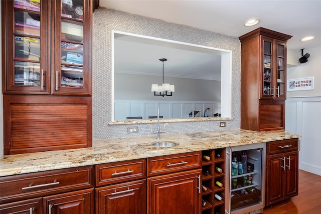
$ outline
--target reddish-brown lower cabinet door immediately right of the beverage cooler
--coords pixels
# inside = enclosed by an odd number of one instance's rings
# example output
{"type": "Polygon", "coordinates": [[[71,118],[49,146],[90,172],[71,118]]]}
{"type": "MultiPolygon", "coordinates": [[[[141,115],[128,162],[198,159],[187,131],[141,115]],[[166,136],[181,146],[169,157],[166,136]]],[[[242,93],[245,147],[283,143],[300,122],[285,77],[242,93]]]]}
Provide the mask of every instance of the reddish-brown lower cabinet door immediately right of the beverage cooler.
{"type": "Polygon", "coordinates": [[[268,155],[266,158],[266,205],[283,200],[283,154],[268,155]]]}

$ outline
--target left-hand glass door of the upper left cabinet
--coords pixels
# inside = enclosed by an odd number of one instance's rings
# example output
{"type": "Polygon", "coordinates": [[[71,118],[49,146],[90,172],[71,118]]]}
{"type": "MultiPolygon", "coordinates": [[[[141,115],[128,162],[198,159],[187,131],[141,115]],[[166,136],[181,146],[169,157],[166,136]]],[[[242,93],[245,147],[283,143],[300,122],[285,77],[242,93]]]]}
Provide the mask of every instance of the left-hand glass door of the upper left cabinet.
{"type": "Polygon", "coordinates": [[[3,28],[4,93],[50,93],[48,8],[48,2],[40,0],[2,2],[7,24],[3,28]]]}

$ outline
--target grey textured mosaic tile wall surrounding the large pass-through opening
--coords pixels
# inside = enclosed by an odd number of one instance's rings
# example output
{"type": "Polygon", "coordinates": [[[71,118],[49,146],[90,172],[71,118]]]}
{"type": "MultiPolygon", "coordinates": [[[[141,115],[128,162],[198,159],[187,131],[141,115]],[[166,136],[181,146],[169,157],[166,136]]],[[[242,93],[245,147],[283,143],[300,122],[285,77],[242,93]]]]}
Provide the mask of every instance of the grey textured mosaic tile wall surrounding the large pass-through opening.
{"type": "MultiPolygon", "coordinates": [[[[215,20],[213,20],[215,22],[215,20]]],[[[152,135],[148,124],[108,125],[111,121],[111,31],[156,37],[232,51],[232,117],[224,129],[240,128],[241,44],[237,37],[99,8],[93,14],[93,140],[152,135]],[[127,134],[127,127],[139,132],[127,134]]],[[[151,124],[155,129],[156,124],[151,124]]],[[[223,129],[219,121],[173,122],[167,133],[223,129]]]]}

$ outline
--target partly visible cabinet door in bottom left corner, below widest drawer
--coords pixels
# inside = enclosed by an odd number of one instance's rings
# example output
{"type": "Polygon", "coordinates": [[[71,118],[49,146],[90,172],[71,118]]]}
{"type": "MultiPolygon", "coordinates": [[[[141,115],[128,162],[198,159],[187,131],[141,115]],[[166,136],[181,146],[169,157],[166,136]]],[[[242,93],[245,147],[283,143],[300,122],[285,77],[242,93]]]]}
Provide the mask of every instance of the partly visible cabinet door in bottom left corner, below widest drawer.
{"type": "Polygon", "coordinates": [[[42,197],[0,204],[0,214],[41,214],[42,197]]]}

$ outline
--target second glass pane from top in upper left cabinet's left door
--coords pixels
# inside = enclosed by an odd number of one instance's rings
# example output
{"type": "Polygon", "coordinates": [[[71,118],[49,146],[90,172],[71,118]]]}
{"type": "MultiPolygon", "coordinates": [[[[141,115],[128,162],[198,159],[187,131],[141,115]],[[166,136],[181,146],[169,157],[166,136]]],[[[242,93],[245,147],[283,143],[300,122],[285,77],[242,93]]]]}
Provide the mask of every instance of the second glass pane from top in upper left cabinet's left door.
{"type": "Polygon", "coordinates": [[[40,36],[40,14],[15,10],[15,33],[40,36]]]}

